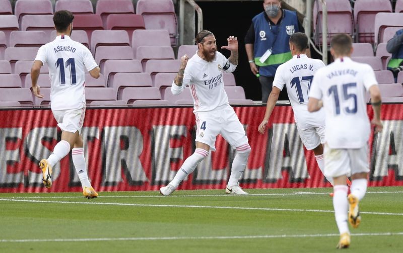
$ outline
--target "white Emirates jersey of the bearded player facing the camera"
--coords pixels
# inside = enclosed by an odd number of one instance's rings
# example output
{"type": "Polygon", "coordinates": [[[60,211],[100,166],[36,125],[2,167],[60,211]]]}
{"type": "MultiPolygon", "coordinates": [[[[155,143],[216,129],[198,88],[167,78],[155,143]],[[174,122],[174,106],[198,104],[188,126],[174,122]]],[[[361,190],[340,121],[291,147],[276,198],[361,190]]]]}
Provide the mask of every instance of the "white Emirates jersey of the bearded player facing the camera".
{"type": "Polygon", "coordinates": [[[201,59],[197,53],[188,60],[182,86],[190,88],[193,112],[206,112],[229,105],[224,90],[223,71],[232,72],[235,67],[220,52],[216,52],[211,62],[201,59]]]}

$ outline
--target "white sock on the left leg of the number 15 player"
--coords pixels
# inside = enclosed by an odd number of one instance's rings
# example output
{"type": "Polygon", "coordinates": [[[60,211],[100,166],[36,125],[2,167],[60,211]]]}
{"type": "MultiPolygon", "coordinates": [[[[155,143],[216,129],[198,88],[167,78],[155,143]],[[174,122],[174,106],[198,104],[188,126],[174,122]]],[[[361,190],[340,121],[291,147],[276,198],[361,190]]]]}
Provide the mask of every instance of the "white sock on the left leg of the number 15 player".
{"type": "Polygon", "coordinates": [[[349,202],[347,200],[347,192],[349,191],[348,186],[345,185],[335,185],[333,187],[333,208],[334,217],[336,219],[337,226],[339,228],[340,234],[345,232],[350,233],[349,225],[347,222],[347,216],[349,211],[349,202]]]}

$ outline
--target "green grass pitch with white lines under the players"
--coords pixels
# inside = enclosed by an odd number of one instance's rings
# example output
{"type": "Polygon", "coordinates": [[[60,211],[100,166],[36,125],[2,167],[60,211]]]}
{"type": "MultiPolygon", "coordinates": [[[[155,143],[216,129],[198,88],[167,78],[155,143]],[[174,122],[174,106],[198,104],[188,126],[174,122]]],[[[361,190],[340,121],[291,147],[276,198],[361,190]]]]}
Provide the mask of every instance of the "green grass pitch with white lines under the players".
{"type": "MultiPolygon", "coordinates": [[[[330,188],[0,194],[0,252],[335,252],[330,188]]],[[[371,187],[348,252],[402,252],[402,187],[371,187]]]]}

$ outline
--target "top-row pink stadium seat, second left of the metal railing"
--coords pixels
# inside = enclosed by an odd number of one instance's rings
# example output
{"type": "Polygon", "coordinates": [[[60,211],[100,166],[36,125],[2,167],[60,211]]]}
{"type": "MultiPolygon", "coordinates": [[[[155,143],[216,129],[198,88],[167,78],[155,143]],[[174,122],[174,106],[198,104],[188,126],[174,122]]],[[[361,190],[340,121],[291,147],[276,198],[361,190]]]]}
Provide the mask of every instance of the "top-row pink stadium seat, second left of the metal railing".
{"type": "Polygon", "coordinates": [[[110,14],[135,14],[135,8],[131,0],[98,0],[96,14],[100,15],[104,27],[110,14]]]}

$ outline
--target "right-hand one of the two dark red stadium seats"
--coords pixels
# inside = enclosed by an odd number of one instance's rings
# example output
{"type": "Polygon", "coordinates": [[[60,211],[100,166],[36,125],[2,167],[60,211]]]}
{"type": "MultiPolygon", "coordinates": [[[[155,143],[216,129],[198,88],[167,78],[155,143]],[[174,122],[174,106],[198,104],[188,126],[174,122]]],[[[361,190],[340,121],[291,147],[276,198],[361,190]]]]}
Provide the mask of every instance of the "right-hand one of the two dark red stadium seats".
{"type": "Polygon", "coordinates": [[[129,36],[130,45],[133,31],[137,29],[146,29],[141,15],[110,14],[106,18],[106,30],[125,30],[129,36]]]}

